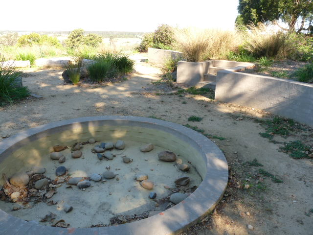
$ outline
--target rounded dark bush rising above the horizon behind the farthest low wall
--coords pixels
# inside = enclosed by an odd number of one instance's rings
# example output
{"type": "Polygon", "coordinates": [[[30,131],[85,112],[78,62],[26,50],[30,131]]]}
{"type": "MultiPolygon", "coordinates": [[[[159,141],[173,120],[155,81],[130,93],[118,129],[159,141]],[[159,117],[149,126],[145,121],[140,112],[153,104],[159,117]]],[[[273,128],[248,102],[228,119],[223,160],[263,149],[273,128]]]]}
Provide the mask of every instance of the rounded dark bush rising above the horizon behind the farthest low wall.
{"type": "Polygon", "coordinates": [[[174,41],[174,33],[171,26],[168,24],[161,24],[157,27],[153,35],[153,44],[156,48],[170,47],[174,41]]]}

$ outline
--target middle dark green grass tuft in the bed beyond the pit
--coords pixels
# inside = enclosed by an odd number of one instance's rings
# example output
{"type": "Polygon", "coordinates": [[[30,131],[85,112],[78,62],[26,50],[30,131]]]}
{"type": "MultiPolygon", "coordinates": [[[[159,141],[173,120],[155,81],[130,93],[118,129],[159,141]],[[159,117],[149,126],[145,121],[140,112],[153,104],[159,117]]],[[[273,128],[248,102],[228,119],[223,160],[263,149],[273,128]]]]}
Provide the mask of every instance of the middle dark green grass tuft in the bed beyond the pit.
{"type": "Polygon", "coordinates": [[[89,78],[94,82],[104,81],[111,67],[112,65],[110,62],[98,60],[96,63],[89,65],[87,68],[89,71],[89,78]]]}

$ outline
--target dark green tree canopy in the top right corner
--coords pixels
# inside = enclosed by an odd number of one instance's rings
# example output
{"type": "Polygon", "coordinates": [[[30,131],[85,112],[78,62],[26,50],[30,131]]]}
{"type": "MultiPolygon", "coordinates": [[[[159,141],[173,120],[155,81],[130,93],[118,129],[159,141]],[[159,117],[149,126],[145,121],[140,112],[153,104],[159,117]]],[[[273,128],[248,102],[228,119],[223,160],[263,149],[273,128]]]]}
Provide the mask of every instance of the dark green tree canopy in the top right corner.
{"type": "Polygon", "coordinates": [[[275,22],[278,20],[288,24],[284,30],[295,30],[296,23],[301,22],[297,29],[301,31],[305,22],[310,21],[313,15],[312,0],[239,0],[239,15],[236,24],[258,22],[275,22]]]}

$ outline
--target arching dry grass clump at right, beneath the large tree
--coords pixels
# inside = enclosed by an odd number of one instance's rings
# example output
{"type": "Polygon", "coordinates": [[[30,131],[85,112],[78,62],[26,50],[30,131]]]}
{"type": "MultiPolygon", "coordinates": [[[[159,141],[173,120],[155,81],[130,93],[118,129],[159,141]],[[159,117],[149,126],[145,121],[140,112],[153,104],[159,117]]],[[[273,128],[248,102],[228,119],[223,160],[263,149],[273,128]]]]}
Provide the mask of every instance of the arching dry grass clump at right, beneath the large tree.
{"type": "Polygon", "coordinates": [[[249,24],[250,32],[246,33],[245,48],[254,57],[272,57],[285,59],[295,51],[292,34],[274,31],[266,24],[249,24]]]}

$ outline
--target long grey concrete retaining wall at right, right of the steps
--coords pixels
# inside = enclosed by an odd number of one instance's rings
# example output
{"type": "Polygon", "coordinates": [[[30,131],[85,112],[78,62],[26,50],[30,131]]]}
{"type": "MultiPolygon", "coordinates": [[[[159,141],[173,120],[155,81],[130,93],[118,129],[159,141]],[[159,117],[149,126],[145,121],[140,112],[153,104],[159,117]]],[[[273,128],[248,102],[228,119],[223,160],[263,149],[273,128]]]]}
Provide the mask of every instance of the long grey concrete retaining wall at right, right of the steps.
{"type": "Polygon", "coordinates": [[[313,126],[313,85],[256,74],[218,71],[215,100],[248,106],[313,126]]]}

